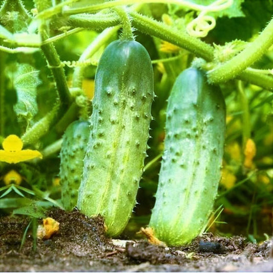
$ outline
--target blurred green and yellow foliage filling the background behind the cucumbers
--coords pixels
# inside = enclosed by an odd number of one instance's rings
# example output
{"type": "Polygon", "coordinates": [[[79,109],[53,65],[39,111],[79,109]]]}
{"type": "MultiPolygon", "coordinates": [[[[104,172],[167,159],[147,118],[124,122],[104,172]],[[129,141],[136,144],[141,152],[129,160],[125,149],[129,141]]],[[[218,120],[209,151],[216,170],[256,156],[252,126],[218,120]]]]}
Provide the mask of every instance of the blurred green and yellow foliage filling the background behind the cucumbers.
{"type": "MultiPolygon", "coordinates": [[[[120,35],[120,27],[116,27],[104,40],[99,36],[108,25],[120,24],[111,9],[93,11],[89,16],[91,23],[88,23],[85,14],[58,12],[38,17],[37,7],[43,9],[45,5],[50,9],[63,2],[5,0],[0,4],[1,142],[6,136],[15,134],[22,138],[27,148],[39,150],[44,155],[40,161],[0,162],[0,207],[3,215],[15,209],[15,213],[41,217],[45,208],[52,204],[60,205],[58,174],[62,134],[73,120],[91,114],[97,62],[103,49],[120,35]],[[96,43],[97,46],[94,46],[96,43]],[[78,61],[90,45],[94,46],[93,54],[78,61]],[[64,71],[65,81],[59,70],[64,71]],[[77,70],[81,73],[78,75],[82,75],[82,82],[80,78],[75,78],[77,70]],[[39,126],[39,131],[34,129],[39,126]],[[15,170],[20,178],[9,178],[11,170],[15,170]],[[5,183],[5,179],[9,182],[5,183]],[[22,181],[11,191],[10,185],[18,179],[22,181]]],[[[214,1],[187,2],[207,6],[214,1]]],[[[101,3],[104,1],[78,1],[72,6],[101,3]]],[[[166,4],[166,1],[143,4],[136,9],[163,22],[177,35],[184,32],[187,24],[198,16],[198,11],[183,5],[166,4]]],[[[216,26],[205,37],[198,39],[214,47],[216,63],[225,61],[253,41],[272,14],[273,3],[270,0],[234,0],[232,7],[207,14],[215,18],[216,26]]],[[[200,56],[195,50],[174,45],[172,40],[163,40],[157,35],[149,35],[149,31],[139,29],[138,24],[133,17],[136,40],[148,50],[153,60],[157,97],[152,109],[151,149],[137,197],[139,204],[127,228],[127,232],[133,233],[148,224],[154,204],[163,150],[166,99],[178,74],[192,61],[200,61],[196,59],[200,56]]],[[[272,78],[272,64],[273,46],[251,67],[259,69],[260,73],[261,70],[263,73],[267,71],[268,77],[272,78]]],[[[273,86],[270,92],[239,79],[222,82],[220,86],[227,106],[227,130],[222,180],[210,229],[222,234],[243,234],[250,240],[262,240],[271,235],[273,226],[273,86]],[[245,164],[246,141],[249,138],[253,140],[257,152],[250,163],[245,164]]]]}

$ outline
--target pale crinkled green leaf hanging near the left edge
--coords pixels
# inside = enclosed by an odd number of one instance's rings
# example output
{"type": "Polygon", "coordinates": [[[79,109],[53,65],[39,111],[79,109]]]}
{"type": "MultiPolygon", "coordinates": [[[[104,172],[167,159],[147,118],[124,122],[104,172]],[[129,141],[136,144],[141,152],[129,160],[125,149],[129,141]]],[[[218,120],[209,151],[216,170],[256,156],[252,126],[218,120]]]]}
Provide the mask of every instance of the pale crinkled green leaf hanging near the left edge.
{"type": "Polygon", "coordinates": [[[20,65],[14,75],[14,87],[17,92],[17,103],[14,105],[14,111],[19,123],[23,127],[31,125],[34,115],[36,115],[36,88],[40,84],[38,78],[39,71],[34,70],[30,65],[20,65]]]}

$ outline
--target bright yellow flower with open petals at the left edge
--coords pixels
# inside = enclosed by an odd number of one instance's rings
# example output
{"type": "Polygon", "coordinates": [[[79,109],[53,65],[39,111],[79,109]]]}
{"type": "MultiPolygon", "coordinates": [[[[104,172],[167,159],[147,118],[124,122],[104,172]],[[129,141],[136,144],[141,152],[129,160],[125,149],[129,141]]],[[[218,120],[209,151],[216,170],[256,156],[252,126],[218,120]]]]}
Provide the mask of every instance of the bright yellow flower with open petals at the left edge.
{"type": "Polygon", "coordinates": [[[15,135],[6,137],[2,146],[4,150],[0,150],[0,161],[18,163],[33,158],[43,158],[41,153],[36,150],[22,150],[23,141],[15,135]]]}

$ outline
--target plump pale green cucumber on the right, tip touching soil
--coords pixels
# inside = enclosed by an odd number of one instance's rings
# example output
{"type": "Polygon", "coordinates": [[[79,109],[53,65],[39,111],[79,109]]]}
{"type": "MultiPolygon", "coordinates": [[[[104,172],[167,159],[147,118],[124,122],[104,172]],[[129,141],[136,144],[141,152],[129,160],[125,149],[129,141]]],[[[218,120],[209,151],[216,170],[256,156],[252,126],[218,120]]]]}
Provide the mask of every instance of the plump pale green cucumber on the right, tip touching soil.
{"type": "Polygon", "coordinates": [[[225,102],[203,73],[184,70],[166,110],[164,153],[149,226],[167,245],[190,242],[205,228],[221,177],[225,102]]]}

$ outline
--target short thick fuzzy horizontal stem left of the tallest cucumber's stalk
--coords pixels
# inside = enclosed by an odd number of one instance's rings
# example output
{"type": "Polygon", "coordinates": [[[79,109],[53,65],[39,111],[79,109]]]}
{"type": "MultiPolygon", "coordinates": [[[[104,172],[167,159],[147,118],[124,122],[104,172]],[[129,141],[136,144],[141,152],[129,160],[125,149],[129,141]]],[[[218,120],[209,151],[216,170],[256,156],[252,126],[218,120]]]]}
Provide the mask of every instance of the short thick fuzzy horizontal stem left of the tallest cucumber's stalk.
{"type": "Polygon", "coordinates": [[[74,27],[104,30],[120,24],[120,18],[114,12],[96,14],[76,14],[69,16],[69,24],[74,27]]]}

